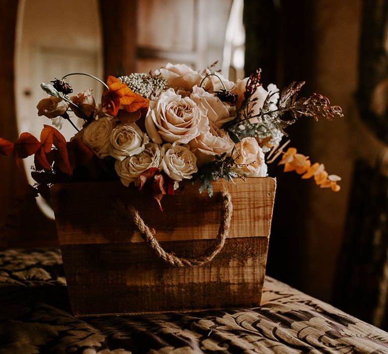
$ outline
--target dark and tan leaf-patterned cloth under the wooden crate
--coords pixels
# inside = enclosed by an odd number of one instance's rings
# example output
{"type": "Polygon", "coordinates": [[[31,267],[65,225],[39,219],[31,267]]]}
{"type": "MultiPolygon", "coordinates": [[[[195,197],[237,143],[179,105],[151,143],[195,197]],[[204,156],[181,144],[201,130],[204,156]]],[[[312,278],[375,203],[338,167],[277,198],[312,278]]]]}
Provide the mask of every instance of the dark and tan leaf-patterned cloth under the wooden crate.
{"type": "Polygon", "coordinates": [[[266,277],[263,305],[72,316],[58,249],[0,252],[0,353],[388,353],[388,333],[266,277]]]}

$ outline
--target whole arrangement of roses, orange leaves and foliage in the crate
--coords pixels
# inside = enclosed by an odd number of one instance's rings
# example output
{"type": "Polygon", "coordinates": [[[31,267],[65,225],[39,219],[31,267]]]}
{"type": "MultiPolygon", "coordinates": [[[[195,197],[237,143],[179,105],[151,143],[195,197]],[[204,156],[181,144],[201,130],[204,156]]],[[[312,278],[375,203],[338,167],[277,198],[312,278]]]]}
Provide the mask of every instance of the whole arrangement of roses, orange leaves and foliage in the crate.
{"type": "MultiPolygon", "coordinates": [[[[120,179],[124,186],[147,186],[161,207],[183,180],[199,181],[200,192],[212,196],[212,182],[267,175],[276,159],[284,171],[314,178],[321,188],[340,190],[341,179],[323,164],[312,164],[295,148],[284,150],[286,128],[302,116],[331,120],[342,110],[313,94],[300,98],[304,82],[293,82],[281,93],[260,83],[260,70],[229,81],[212,67],[203,72],[167,64],[150,73],[109,76],[101,104],[88,89],[71,95],[65,79],[42,83],[49,97],[38,105],[58,129],[64,121],[77,130],[67,142],[52,125],[40,140],[24,132],[15,142],[0,138],[0,153],[18,159],[34,155],[32,176],[37,193],[49,198],[60,182],[120,179]],[[84,120],[78,129],[71,116],[84,120]],[[284,140],[284,142],[283,142],[284,140]]],[[[77,73],[79,74],[79,73],[77,73]]]]}

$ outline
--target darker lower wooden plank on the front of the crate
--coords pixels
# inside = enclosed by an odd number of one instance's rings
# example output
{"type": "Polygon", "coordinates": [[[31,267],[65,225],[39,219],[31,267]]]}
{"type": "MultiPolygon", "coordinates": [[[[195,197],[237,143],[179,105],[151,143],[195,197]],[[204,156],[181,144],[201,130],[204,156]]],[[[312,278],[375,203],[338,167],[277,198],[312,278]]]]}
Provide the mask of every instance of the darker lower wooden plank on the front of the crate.
{"type": "MultiPolygon", "coordinates": [[[[211,240],[163,242],[179,256],[196,257],[211,240]]],[[[202,267],[176,268],[146,243],[61,247],[76,316],[155,313],[260,305],[267,237],[226,240],[202,267]]]]}

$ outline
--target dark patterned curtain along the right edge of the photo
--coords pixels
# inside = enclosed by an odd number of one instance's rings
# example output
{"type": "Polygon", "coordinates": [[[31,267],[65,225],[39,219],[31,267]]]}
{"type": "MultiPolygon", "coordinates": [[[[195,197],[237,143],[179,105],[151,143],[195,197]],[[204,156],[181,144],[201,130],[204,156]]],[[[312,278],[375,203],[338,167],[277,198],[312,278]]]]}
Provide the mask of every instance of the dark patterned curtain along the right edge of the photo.
{"type": "Polygon", "coordinates": [[[334,293],[336,306],[384,329],[388,329],[388,169],[383,158],[384,145],[388,146],[387,21],[388,1],[363,0],[356,102],[365,129],[381,146],[354,166],[334,293]]]}

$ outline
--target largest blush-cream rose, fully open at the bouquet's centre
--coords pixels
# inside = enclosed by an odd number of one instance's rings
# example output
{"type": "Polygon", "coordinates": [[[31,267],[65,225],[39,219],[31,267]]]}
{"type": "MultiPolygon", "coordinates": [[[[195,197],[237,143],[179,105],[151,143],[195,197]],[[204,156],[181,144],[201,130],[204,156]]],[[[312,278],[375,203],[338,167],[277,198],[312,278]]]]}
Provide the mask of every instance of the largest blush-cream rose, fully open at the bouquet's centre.
{"type": "Polygon", "coordinates": [[[187,144],[209,127],[206,114],[193,100],[168,89],[156,101],[150,101],[146,129],[154,143],[162,144],[164,140],[176,145],[187,144]]]}

